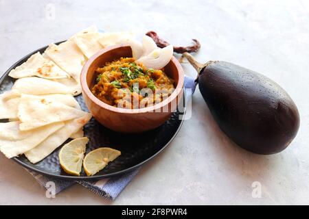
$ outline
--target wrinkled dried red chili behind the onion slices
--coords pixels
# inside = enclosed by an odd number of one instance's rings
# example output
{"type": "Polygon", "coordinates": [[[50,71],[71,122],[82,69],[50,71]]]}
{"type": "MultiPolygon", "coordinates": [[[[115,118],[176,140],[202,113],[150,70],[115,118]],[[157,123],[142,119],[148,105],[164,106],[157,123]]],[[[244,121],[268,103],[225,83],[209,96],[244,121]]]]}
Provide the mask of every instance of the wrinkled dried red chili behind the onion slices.
{"type": "MultiPolygon", "coordinates": [[[[155,31],[148,31],[148,33],[146,35],[150,36],[155,41],[157,46],[160,47],[160,48],[167,47],[169,45],[168,42],[166,42],[162,38],[159,38],[158,34],[155,31]]],[[[198,49],[201,48],[201,43],[198,42],[198,40],[196,40],[196,39],[192,39],[192,40],[194,42],[194,44],[192,46],[174,47],[174,52],[175,53],[185,53],[185,52],[196,53],[198,51],[198,49]]]]}

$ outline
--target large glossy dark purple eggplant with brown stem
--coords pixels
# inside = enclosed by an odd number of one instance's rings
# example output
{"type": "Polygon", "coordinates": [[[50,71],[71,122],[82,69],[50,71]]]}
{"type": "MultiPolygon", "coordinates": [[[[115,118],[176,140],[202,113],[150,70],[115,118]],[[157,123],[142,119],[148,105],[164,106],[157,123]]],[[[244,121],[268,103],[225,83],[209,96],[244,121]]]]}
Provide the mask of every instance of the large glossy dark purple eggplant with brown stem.
{"type": "Polygon", "coordinates": [[[200,64],[198,87],[211,115],[233,142],[253,153],[279,153],[295,138],[299,112],[287,92],[268,77],[229,62],[200,64]]]}

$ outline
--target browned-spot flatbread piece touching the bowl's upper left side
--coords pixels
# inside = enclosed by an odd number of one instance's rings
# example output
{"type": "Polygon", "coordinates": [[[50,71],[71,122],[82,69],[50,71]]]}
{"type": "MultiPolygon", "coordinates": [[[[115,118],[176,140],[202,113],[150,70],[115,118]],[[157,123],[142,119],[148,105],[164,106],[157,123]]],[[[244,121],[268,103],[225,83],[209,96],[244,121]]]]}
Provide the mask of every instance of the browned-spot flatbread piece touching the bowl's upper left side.
{"type": "Polygon", "coordinates": [[[67,40],[58,46],[56,44],[50,44],[45,50],[45,54],[60,66],[60,68],[71,75],[71,77],[76,80],[80,79],[82,66],[86,59],[73,40],[67,40]]]}

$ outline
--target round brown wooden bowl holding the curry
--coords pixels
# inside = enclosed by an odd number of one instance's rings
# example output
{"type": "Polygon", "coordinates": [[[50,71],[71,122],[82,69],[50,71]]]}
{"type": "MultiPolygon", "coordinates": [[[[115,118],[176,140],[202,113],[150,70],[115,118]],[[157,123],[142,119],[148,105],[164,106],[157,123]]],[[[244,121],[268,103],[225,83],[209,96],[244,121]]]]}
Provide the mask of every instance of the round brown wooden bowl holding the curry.
{"type": "Polygon", "coordinates": [[[150,107],[131,110],[108,105],[96,98],[91,92],[91,88],[98,76],[95,70],[104,66],[106,62],[113,62],[120,57],[132,57],[130,46],[119,44],[107,47],[93,55],[84,64],[80,81],[82,84],[82,96],[89,111],[99,123],[114,131],[139,133],[159,127],[170,118],[183,95],[184,73],[181,64],[173,56],[164,68],[165,73],[174,79],[176,88],[168,99],[150,107]]]}

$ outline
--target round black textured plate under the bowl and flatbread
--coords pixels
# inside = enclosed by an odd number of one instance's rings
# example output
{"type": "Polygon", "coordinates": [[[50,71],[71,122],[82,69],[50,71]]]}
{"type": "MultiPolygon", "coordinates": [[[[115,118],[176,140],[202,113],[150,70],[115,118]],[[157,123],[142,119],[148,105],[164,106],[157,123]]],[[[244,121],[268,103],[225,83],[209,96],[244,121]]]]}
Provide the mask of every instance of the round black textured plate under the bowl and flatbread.
{"type": "MultiPolygon", "coordinates": [[[[38,51],[43,53],[46,48],[47,47],[43,47],[30,53],[11,66],[0,78],[0,93],[12,88],[15,80],[8,76],[10,70],[23,64],[23,62],[25,62],[34,53],[38,51]]],[[[78,103],[80,103],[82,110],[88,112],[82,95],[76,96],[76,99],[78,103]]],[[[183,101],[183,103],[183,106],[185,106],[185,101],[183,101]]],[[[29,170],[34,170],[43,175],[57,177],[60,179],[93,180],[113,177],[141,166],[141,164],[148,162],[152,159],[152,157],[155,157],[158,153],[160,153],[176,136],[176,133],[183,124],[183,120],[179,120],[179,116],[185,112],[185,107],[182,107],[181,109],[182,110],[180,111],[182,113],[179,112],[179,109],[177,109],[177,111],[172,114],[170,119],[161,125],[161,127],[141,134],[117,133],[100,125],[100,123],[92,118],[84,127],[84,134],[89,138],[86,153],[89,153],[98,147],[110,146],[121,151],[122,155],[115,159],[115,161],[108,164],[106,168],[91,177],[87,177],[84,170],[82,170],[80,177],[76,177],[67,175],[67,173],[60,168],[58,150],[61,146],[37,164],[30,163],[24,155],[14,157],[12,159],[29,170]]],[[[1,120],[1,122],[5,121],[7,120],[1,120]]],[[[69,140],[67,142],[69,142],[69,140]]]]}

